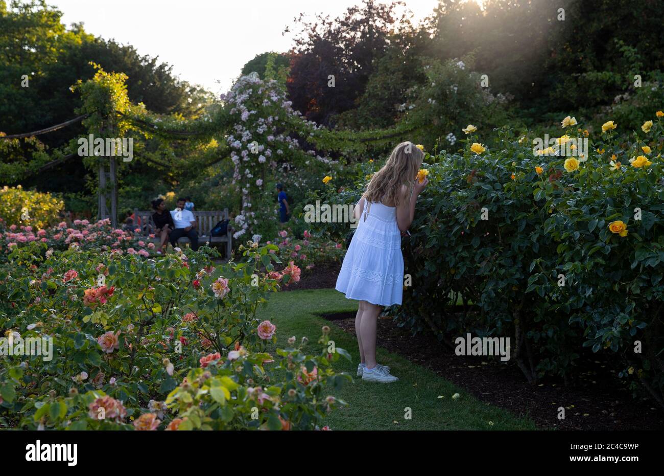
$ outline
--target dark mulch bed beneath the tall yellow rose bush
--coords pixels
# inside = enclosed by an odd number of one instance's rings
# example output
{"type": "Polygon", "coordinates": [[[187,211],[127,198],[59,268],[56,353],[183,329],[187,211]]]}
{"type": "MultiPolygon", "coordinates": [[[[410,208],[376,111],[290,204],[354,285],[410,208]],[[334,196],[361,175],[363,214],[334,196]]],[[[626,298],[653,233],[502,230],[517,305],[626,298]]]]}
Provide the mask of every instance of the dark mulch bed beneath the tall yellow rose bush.
{"type": "MultiPolygon", "coordinates": [[[[323,317],[355,334],[355,312],[323,317]]],[[[633,400],[628,392],[616,386],[616,379],[606,370],[608,364],[599,360],[584,369],[574,386],[565,387],[562,381],[553,379],[531,386],[514,364],[499,364],[479,356],[457,356],[432,334],[412,336],[387,316],[378,319],[377,344],[465,388],[482,402],[530,417],[541,428],[664,428],[661,408],[657,408],[653,400],[633,400]],[[561,406],[566,408],[564,420],[557,418],[557,409],[561,406]]]]}

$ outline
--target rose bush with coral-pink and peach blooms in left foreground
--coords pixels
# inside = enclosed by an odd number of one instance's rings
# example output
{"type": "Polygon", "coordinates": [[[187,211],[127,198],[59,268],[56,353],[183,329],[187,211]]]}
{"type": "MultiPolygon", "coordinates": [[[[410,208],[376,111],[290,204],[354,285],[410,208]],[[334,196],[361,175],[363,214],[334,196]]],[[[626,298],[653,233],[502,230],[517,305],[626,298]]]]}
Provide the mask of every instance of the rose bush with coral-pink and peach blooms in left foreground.
{"type": "Polygon", "coordinates": [[[52,356],[11,356],[5,347],[0,406],[8,413],[0,425],[275,429],[276,418],[313,429],[337,405],[321,392],[328,380],[345,380],[331,370],[345,352],[266,353],[277,329],[256,311],[280,285],[270,273],[293,272],[274,269],[276,249],[240,247],[242,263],[215,266],[207,247],[155,259],[118,250],[47,256],[39,241],[13,247],[0,265],[3,338],[52,338],[52,356]],[[290,364],[325,369],[319,386],[298,386],[290,364]],[[255,410],[259,387],[271,404],[261,397],[255,410]],[[192,388],[209,395],[189,395],[192,388]]]}

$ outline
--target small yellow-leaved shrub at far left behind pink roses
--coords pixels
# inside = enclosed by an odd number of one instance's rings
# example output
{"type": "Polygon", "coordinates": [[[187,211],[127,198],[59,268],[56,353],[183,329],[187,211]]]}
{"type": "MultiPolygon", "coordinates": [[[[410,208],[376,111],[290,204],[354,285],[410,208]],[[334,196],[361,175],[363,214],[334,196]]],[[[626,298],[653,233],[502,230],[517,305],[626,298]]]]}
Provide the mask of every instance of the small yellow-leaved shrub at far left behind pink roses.
{"type": "Polygon", "coordinates": [[[5,226],[27,225],[43,228],[58,219],[64,203],[50,193],[24,190],[21,185],[0,189],[0,219],[5,226]]]}

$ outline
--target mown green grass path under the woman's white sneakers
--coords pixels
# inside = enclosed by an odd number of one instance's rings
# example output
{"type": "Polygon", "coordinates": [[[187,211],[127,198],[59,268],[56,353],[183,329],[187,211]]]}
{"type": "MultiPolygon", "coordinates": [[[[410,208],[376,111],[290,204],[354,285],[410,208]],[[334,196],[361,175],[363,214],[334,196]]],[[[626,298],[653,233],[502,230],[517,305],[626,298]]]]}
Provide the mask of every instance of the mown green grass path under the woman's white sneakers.
{"type": "Polygon", "coordinates": [[[308,346],[318,346],[321,326],[327,324],[336,346],[353,356],[353,362],[342,358],[335,364],[337,372],[351,374],[354,382],[330,392],[349,404],[327,417],[331,429],[537,429],[530,419],[479,402],[430,370],[383,348],[378,348],[378,362],[390,366],[400,380],[394,384],[363,382],[355,376],[360,361],[355,336],[317,315],[353,310],[357,310],[357,302],[333,289],[316,289],[272,295],[259,314],[277,326],[278,347],[285,347],[293,335],[298,340],[307,336],[308,346]],[[452,400],[456,393],[460,398],[452,400]],[[411,419],[405,418],[406,408],[411,409],[411,419]]]}

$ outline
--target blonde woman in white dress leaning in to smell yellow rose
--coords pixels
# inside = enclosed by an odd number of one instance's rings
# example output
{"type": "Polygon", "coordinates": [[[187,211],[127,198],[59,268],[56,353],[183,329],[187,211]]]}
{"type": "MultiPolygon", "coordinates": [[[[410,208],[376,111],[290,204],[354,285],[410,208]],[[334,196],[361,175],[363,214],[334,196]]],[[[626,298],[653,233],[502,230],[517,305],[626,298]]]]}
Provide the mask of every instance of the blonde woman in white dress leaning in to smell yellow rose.
{"type": "Polygon", "coordinates": [[[402,142],[369,181],[355,206],[357,229],[337,278],[337,291],[359,300],[355,332],[361,362],[357,376],[370,382],[396,382],[390,368],[376,362],[376,320],[382,306],[401,304],[404,257],[401,232],[415,216],[415,203],[428,183],[415,180],[424,153],[402,142]]]}

